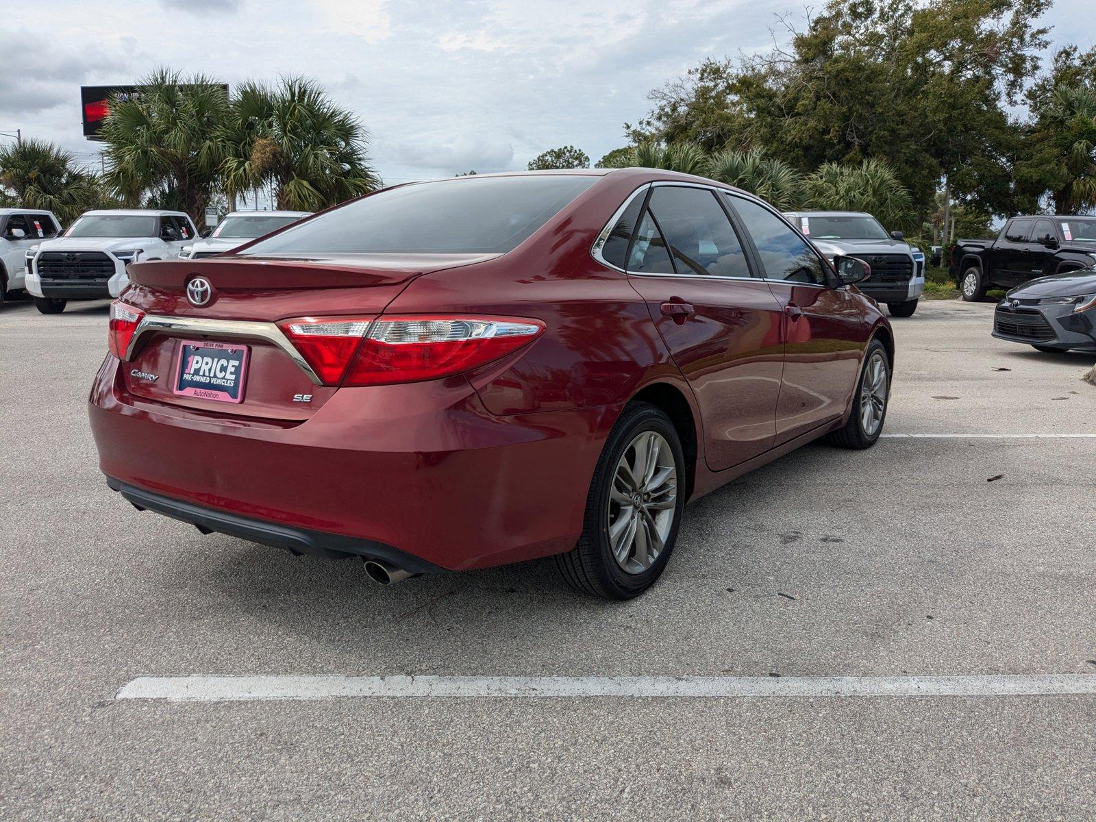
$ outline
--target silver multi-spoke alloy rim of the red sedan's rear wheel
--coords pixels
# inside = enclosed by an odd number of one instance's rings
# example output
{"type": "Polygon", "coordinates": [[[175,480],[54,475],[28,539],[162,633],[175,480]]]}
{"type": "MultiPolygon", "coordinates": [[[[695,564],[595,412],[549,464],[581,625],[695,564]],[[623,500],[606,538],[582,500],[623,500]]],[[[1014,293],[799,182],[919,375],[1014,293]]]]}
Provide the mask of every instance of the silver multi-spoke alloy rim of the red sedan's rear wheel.
{"type": "Polygon", "coordinates": [[[609,488],[609,547],[627,573],[659,558],[677,512],[677,467],[665,437],[643,431],[624,449],[609,488]]]}

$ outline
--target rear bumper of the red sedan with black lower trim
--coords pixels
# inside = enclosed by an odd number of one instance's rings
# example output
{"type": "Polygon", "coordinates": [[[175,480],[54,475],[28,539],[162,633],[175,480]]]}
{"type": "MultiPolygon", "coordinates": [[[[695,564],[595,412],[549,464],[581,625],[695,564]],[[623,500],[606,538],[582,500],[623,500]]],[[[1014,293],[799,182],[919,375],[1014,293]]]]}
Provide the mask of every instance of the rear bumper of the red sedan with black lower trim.
{"type": "Polygon", "coordinates": [[[104,361],[89,413],[100,467],[132,501],[296,550],[388,558],[379,545],[404,568],[570,550],[619,413],[493,416],[458,377],[344,388],[306,422],[275,423],[141,400],[118,365],[104,361]]]}

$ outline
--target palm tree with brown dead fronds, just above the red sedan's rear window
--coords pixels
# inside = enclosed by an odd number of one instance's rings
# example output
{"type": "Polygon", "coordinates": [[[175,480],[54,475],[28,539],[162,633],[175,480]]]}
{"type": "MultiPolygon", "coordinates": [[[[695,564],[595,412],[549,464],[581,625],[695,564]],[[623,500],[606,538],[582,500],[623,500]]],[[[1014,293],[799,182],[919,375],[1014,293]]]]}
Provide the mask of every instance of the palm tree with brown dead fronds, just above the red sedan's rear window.
{"type": "Polygon", "coordinates": [[[278,208],[318,210],[380,186],[362,124],[311,80],[246,83],[218,134],[226,187],[271,185],[278,208]]]}

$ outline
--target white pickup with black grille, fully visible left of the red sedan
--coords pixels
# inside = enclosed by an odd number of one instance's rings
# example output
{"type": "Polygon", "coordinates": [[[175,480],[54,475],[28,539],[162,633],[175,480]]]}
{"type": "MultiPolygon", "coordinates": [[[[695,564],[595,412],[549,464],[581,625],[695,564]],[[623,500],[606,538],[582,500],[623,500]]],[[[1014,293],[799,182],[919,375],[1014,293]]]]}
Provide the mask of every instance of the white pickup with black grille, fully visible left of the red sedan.
{"type": "Polygon", "coordinates": [[[182,212],[85,212],[61,237],[26,252],[26,290],[42,313],[64,311],[70,299],[117,297],[129,285],[128,263],[176,259],[195,237],[182,212]]]}

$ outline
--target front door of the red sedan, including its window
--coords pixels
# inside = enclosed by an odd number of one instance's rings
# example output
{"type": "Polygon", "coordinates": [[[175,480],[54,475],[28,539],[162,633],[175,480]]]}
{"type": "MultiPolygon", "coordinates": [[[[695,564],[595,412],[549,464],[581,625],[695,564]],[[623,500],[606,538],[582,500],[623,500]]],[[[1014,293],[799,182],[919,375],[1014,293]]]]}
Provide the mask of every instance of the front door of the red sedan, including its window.
{"type": "Polygon", "coordinates": [[[776,409],[779,445],[845,412],[859,369],[864,310],[847,288],[830,284],[827,264],[776,212],[754,199],[724,196],[787,317],[776,409]]]}

